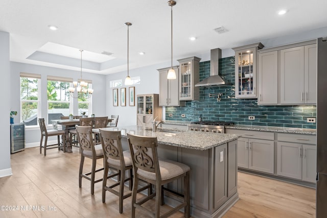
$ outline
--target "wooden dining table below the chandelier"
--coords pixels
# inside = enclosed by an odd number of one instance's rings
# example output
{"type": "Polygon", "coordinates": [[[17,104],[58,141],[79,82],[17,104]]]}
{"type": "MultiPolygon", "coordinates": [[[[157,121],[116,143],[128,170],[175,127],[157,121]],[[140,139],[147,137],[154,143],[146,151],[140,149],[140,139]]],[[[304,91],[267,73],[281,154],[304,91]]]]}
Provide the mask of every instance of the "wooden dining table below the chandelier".
{"type": "MultiPolygon", "coordinates": [[[[108,118],[108,123],[112,121],[111,118],[108,118]]],[[[76,125],[80,124],[80,119],[54,119],[52,120],[53,128],[58,130],[58,125],[62,126],[62,130],[65,131],[65,141],[64,144],[66,146],[66,152],[72,153],[72,145],[69,141],[69,130],[75,128],[76,125]]]]}

